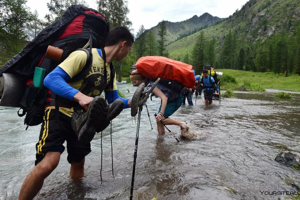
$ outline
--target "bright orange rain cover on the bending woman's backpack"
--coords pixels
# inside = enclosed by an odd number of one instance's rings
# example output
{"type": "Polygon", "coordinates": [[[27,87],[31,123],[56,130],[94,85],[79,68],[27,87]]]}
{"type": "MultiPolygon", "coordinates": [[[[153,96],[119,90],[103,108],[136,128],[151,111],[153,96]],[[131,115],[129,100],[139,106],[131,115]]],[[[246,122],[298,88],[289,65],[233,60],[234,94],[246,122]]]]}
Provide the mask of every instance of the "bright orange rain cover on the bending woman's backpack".
{"type": "Polygon", "coordinates": [[[186,88],[195,86],[193,66],[162,56],[145,56],[135,64],[142,76],[151,79],[170,79],[178,81],[186,88]]]}

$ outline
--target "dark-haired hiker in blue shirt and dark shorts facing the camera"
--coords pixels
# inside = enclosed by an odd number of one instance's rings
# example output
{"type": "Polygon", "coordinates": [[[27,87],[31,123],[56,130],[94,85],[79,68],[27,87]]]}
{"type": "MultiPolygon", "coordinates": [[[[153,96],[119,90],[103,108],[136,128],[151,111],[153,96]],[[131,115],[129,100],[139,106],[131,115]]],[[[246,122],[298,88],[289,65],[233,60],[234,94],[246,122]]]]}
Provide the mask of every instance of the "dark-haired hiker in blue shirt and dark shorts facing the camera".
{"type": "Polygon", "coordinates": [[[214,79],[208,75],[208,70],[203,70],[203,76],[196,83],[203,85],[204,102],[208,106],[212,103],[213,94],[217,94],[217,85],[214,79]]]}

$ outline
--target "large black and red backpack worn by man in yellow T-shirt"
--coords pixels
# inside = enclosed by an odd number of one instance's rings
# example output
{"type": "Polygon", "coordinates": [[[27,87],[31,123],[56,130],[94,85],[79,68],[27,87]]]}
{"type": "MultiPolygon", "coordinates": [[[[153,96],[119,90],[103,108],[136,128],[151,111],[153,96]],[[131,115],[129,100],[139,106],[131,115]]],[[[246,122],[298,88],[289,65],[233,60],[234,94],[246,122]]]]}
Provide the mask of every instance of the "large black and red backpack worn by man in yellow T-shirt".
{"type": "MultiPolygon", "coordinates": [[[[24,87],[24,94],[19,104],[23,109],[23,113],[19,114],[18,112],[19,116],[23,116],[27,112],[25,124],[30,126],[42,122],[40,115],[43,115],[43,113],[37,114],[33,109],[40,109],[41,105],[45,104],[47,94],[49,96],[49,93],[51,93],[51,91],[47,91],[44,88],[34,88],[32,83],[28,81],[32,80],[35,67],[44,68],[46,76],[64,61],[71,52],[83,48],[87,43],[90,44],[90,48],[91,46],[93,48],[103,48],[109,31],[110,25],[99,11],[83,5],[71,5],[61,19],[44,28],[20,53],[0,68],[0,76],[3,73],[16,74],[25,80],[24,85],[27,84],[27,87],[24,87]],[[49,45],[63,49],[60,61],[45,58],[49,45]],[[39,108],[32,108],[35,104],[39,108]],[[31,116],[30,111],[36,116],[31,116]]],[[[73,77],[69,82],[79,80],[88,74],[88,70],[91,67],[91,51],[88,49],[83,50],[90,54],[84,67],[85,70],[82,70],[79,75],[73,77]]]]}

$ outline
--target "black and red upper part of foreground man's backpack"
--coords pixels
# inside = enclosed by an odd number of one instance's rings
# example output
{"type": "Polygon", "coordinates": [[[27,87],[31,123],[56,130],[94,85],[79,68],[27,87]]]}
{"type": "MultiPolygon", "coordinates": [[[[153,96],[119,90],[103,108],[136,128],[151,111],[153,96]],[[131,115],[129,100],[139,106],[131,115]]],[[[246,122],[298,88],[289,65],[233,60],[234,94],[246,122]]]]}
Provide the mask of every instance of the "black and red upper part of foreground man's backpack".
{"type": "Polygon", "coordinates": [[[20,53],[5,63],[0,68],[0,76],[4,72],[32,76],[35,67],[45,68],[48,74],[71,52],[85,46],[90,36],[93,47],[103,48],[109,30],[109,23],[99,11],[71,5],[61,19],[44,28],[20,53]],[[61,61],[44,58],[49,45],[64,50],[61,61]]]}

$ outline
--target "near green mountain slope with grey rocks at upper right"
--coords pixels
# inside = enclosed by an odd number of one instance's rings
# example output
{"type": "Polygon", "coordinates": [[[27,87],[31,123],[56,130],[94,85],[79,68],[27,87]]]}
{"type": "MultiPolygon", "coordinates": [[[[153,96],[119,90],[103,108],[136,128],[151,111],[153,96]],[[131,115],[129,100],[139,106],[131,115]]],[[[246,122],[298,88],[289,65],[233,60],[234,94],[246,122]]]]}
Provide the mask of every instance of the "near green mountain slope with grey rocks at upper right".
{"type": "MultiPolygon", "coordinates": [[[[254,43],[285,29],[290,34],[300,25],[300,0],[250,0],[241,9],[229,16],[224,22],[203,29],[207,39],[216,39],[216,50],[219,53],[224,36],[230,29],[238,32],[239,43],[254,43]]],[[[167,46],[170,58],[191,54],[195,40],[200,31],[182,38],[167,46]]]]}

